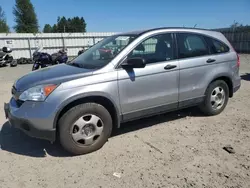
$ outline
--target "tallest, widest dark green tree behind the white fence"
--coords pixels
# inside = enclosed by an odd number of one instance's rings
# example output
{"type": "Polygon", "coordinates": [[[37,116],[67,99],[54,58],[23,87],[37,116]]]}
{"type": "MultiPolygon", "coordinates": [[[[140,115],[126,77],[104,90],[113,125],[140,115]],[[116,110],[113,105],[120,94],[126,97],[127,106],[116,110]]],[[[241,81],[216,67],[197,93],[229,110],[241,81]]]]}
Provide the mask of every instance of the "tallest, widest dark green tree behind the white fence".
{"type": "Polygon", "coordinates": [[[34,6],[30,0],[16,0],[13,9],[16,25],[14,29],[17,33],[37,33],[39,30],[37,16],[34,6]]]}

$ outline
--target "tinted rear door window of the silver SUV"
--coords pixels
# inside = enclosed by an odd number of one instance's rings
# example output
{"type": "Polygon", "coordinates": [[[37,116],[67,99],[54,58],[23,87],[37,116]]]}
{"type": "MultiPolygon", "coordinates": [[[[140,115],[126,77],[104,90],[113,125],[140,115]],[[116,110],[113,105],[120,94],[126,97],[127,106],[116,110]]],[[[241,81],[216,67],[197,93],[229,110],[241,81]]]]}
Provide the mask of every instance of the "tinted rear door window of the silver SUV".
{"type": "Polygon", "coordinates": [[[203,36],[192,33],[178,33],[179,58],[197,57],[209,54],[207,43],[203,36]]]}

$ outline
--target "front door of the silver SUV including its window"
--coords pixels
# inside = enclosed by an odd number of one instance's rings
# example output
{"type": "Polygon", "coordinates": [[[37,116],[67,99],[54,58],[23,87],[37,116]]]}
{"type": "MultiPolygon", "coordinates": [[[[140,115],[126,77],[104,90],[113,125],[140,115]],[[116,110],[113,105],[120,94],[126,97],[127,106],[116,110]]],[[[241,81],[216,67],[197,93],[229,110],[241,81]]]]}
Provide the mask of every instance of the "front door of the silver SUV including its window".
{"type": "Polygon", "coordinates": [[[177,108],[179,63],[171,33],[149,37],[129,53],[141,57],[144,68],[118,70],[118,87],[123,120],[136,119],[177,108]]]}

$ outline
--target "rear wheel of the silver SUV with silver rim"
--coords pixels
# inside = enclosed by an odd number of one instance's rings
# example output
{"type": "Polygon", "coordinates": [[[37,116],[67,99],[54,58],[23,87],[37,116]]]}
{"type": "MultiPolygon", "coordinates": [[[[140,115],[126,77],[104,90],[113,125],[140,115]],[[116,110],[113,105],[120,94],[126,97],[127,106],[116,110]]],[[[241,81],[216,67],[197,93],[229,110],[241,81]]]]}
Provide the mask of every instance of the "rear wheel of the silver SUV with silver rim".
{"type": "Polygon", "coordinates": [[[228,99],[229,99],[229,88],[227,83],[223,80],[216,80],[208,86],[205,93],[205,100],[200,105],[200,109],[205,115],[208,116],[218,115],[225,109],[228,103],[228,99]],[[222,96],[222,94],[218,95],[218,93],[223,93],[222,90],[224,91],[224,102],[222,102],[223,100],[219,100],[220,99],[219,96],[222,96]],[[218,101],[221,102],[221,104],[218,105],[219,108],[218,107],[214,108],[217,105],[217,103],[219,104],[219,102],[215,102],[217,100],[216,96],[218,97],[218,101]]]}

